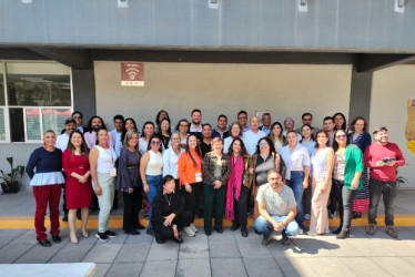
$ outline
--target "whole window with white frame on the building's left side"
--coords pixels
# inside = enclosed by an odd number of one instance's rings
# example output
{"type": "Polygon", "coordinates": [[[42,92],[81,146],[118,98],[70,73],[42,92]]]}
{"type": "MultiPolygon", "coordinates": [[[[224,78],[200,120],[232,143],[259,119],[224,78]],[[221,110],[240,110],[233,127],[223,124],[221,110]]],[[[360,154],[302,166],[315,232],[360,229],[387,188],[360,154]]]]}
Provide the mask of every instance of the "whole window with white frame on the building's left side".
{"type": "Polygon", "coordinates": [[[70,68],[7,62],[0,69],[0,141],[10,134],[10,142],[39,142],[47,130],[59,135],[72,112],[70,68]]]}

